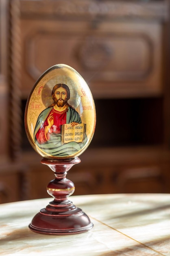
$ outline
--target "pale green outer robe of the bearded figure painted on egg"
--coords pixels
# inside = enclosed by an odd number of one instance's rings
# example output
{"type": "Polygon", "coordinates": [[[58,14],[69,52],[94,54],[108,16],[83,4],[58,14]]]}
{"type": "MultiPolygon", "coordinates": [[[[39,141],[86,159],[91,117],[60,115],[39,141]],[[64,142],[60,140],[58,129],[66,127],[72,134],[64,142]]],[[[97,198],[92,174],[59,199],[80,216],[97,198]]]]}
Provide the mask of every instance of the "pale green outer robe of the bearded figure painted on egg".
{"type": "MultiPolygon", "coordinates": [[[[61,133],[55,134],[52,133],[50,135],[50,140],[46,141],[44,144],[39,144],[35,135],[37,134],[37,131],[41,127],[41,124],[46,120],[48,117],[50,111],[52,110],[52,107],[46,108],[41,112],[37,119],[37,124],[35,126],[34,130],[34,140],[35,144],[45,153],[52,155],[52,156],[59,156],[59,157],[68,157],[70,155],[74,155],[79,150],[83,148],[83,146],[86,144],[87,136],[85,136],[84,143],[82,142],[69,142],[67,144],[61,144],[61,133]]],[[[68,112],[66,113],[66,124],[71,124],[72,122],[76,122],[81,124],[81,117],[78,114],[76,110],[74,110],[71,107],[68,107],[68,112]]]]}

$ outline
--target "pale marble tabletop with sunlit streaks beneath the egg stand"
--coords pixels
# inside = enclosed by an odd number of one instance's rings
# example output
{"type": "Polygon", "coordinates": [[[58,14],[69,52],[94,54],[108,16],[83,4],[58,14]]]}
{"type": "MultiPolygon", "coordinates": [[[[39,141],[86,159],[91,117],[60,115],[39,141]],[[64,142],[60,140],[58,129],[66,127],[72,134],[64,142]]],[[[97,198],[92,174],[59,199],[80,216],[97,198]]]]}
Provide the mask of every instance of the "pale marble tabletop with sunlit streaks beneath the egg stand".
{"type": "Polygon", "coordinates": [[[91,219],[85,233],[50,236],[28,228],[51,198],[0,205],[0,255],[170,255],[170,194],[81,195],[69,198],[91,219]]]}

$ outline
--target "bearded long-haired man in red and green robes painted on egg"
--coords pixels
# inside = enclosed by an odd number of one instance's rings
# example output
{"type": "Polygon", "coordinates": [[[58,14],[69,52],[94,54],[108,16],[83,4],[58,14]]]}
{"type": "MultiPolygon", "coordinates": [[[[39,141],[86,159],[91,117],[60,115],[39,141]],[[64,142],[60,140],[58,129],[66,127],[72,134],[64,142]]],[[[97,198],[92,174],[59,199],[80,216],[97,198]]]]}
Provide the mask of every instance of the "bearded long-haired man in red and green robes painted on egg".
{"type": "MultiPolygon", "coordinates": [[[[34,130],[35,144],[49,155],[69,156],[83,147],[82,142],[71,141],[61,144],[61,127],[63,124],[76,126],[81,124],[78,112],[70,106],[70,89],[68,85],[59,83],[52,89],[53,103],[41,112],[34,130]]],[[[87,140],[87,137],[85,137],[87,140]]]]}

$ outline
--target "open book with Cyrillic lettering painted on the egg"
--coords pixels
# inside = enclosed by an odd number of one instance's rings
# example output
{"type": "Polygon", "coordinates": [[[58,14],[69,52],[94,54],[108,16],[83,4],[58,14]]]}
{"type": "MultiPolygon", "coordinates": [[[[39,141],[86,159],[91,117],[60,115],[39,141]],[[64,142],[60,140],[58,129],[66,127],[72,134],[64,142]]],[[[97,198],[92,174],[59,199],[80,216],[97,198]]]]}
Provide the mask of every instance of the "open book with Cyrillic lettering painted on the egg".
{"type": "Polygon", "coordinates": [[[86,124],[77,124],[72,127],[71,124],[63,124],[61,126],[61,144],[68,142],[84,142],[86,132],[86,124]]]}

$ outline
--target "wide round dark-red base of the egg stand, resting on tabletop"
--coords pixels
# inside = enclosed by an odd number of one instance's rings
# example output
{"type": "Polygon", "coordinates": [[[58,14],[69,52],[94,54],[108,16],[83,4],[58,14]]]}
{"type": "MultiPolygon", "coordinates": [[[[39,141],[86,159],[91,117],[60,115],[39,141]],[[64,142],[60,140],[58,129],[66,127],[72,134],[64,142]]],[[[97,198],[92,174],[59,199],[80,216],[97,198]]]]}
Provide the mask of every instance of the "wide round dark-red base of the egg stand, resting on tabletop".
{"type": "Polygon", "coordinates": [[[29,225],[32,231],[46,235],[71,235],[92,229],[93,224],[89,217],[73,204],[64,207],[65,209],[68,208],[67,211],[63,211],[64,209],[59,212],[51,211],[51,207],[52,204],[48,205],[46,209],[41,209],[35,215],[29,225]]]}

